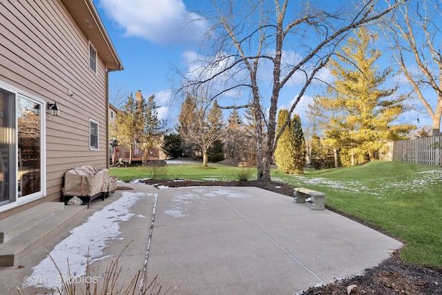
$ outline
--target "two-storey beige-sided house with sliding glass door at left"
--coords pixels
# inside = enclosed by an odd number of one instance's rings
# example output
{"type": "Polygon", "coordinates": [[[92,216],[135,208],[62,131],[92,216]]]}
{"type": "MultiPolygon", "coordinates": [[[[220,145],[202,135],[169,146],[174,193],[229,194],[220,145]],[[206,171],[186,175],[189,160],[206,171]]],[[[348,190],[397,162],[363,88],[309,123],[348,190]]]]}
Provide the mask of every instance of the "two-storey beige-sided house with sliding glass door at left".
{"type": "Polygon", "coordinates": [[[1,220],[61,200],[69,169],[108,167],[108,74],[123,66],[93,0],[1,1],[0,32],[1,220]]]}

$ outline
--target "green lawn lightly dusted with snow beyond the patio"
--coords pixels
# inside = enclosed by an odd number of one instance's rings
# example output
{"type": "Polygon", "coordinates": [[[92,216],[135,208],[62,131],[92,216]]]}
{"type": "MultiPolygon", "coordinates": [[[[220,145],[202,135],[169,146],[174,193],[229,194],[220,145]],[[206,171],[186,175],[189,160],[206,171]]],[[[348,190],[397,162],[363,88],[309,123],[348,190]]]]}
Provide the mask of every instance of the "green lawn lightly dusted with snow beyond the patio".
{"type": "MultiPolygon", "coordinates": [[[[236,180],[238,168],[211,164],[167,165],[162,178],[236,180]]],[[[255,171],[252,179],[256,179],[255,171]]],[[[363,166],[305,175],[271,171],[272,180],[307,187],[327,194],[326,204],[361,218],[407,243],[401,257],[407,263],[442,266],[442,169],[437,166],[377,161],[363,166]]],[[[111,168],[119,180],[149,178],[140,167],[111,168]]]]}

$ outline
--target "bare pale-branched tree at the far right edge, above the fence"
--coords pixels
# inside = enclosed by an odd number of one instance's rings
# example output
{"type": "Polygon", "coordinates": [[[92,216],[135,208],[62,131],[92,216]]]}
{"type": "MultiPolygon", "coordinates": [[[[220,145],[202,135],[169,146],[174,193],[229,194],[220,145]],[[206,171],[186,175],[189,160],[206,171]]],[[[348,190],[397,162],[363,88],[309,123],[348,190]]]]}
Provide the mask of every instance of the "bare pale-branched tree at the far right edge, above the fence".
{"type": "Polygon", "coordinates": [[[442,115],[442,9],[439,1],[408,1],[386,23],[393,55],[439,136],[442,115]],[[428,91],[428,92],[427,92],[428,91]],[[436,98],[432,106],[430,99],[436,98]]]}

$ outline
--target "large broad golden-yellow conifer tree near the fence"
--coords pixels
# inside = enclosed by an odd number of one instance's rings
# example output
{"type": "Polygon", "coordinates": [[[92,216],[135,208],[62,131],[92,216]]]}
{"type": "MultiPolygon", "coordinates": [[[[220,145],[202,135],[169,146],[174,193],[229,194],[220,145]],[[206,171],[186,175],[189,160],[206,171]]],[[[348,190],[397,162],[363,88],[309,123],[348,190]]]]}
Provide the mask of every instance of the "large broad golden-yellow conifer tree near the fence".
{"type": "Polygon", "coordinates": [[[330,63],[336,81],[325,96],[316,97],[328,117],[324,126],[328,144],[347,153],[352,164],[363,161],[365,155],[374,160],[385,142],[405,139],[412,129],[392,124],[405,111],[405,98],[394,97],[395,88],[382,88],[392,68],[378,72],[381,52],[370,48],[376,38],[367,28],[356,30],[337,54],[338,60],[330,63]]]}

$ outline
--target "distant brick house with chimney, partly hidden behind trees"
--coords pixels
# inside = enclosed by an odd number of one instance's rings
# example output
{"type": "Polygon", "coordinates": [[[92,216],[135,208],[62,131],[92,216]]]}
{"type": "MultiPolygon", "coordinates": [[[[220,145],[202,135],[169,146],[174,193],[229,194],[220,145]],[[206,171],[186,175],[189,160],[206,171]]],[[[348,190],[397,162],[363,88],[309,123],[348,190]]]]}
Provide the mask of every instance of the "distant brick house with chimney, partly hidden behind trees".
{"type": "MultiPolygon", "coordinates": [[[[135,102],[140,103],[142,101],[142,93],[141,91],[137,91],[135,93],[135,102]]],[[[109,126],[115,125],[115,115],[117,114],[117,108],[112,104],[109,104],[109,126]]],[[[119,159],[123,159],[128,162],[129,160],[129,149],[125,146],[113,146],[112,140],[115,140],[115,137],[110,138],[109,140],[109,162],[111,164],[115,164],[119,159]]],[[[132,162],[142,162],[152,161],[152,160],[160,160],[165,159],[166,155],[162,152],[160,146],[157,146],[153,149],[148,149],[146,155],[144,155],[144,149],[140,144],[134,142],[134,147],[132,149],[132,162]]]]}

